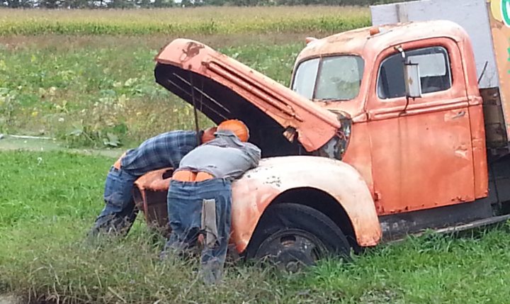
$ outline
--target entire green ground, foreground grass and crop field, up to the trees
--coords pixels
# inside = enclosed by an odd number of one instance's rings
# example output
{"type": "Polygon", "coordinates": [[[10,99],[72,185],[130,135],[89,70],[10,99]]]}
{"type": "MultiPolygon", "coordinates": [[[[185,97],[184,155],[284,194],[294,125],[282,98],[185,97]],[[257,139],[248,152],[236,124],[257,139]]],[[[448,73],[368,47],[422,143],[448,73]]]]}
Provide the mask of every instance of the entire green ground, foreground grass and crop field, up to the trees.
{"type": "Polygon", "coordinates": [[[0,140],[0,303],[4,293],[32,303],[507,303],[508,225],[409,237],[299,274],[231,261],[217,286],[203,286],[196,261],[160,261],[164,240],[142,220],[123,240],[86,240],[114,160],[89,148],[120,147],[101,152],[114,156],[192,128],[191,108],[154,83],[160,47],[193,38],[288,85],[305,37],[369,23],[366,8],[312,6],[0,10],[0,133],[56,138],[0,140]],[[16,147],[32,152],[4,151],[16,147]]]}

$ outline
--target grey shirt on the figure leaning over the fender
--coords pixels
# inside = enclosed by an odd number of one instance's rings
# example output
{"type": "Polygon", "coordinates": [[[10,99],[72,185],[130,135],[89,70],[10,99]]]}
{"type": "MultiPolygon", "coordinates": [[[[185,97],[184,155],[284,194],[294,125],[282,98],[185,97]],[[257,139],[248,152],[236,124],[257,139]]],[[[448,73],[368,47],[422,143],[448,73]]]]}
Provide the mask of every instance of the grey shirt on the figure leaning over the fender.
{"type": "Polygon", "coordinates": [[[261,150],[241,142],[234,133],[217,131],[216,138],[191,150],[181,159],[179,169],[205,171],[220,179],[237,179],[246,170],[257,167],[261,150]]]}

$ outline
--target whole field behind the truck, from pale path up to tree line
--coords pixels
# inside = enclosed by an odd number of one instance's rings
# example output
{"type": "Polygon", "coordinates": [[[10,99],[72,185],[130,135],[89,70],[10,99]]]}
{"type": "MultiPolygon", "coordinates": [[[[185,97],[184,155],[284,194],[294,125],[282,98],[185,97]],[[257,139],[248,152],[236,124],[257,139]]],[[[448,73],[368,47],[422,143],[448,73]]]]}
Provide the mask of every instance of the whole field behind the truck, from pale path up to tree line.
{"type": "Polygon", "coordinates": [[[154,82],[154,55],[174,38],[200,40],[288,84],[306,36],[368,23],[366,8],[320,6],[0,10],[0,133],[102,147],[191,128],[191,108],[154,82]]]}

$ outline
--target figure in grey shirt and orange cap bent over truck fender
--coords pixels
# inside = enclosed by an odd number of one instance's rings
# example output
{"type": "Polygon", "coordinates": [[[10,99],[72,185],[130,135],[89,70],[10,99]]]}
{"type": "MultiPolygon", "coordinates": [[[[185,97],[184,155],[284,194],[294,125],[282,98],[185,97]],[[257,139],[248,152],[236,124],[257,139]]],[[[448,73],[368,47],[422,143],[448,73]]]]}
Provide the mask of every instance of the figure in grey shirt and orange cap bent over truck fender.
{"type": "Polygon", "coordinates": [[[172,229],[167,249],[193,246],[204,236],[201,274],[206,283],[222,276],[230,236],[231,181],[259,164],[261,151],[248,140],[239,120],[220,123],[216,138],[186,154],[174,172],[167,196],[172,229]],[[244,140],[244,141],[243,141],[244,140]]]}

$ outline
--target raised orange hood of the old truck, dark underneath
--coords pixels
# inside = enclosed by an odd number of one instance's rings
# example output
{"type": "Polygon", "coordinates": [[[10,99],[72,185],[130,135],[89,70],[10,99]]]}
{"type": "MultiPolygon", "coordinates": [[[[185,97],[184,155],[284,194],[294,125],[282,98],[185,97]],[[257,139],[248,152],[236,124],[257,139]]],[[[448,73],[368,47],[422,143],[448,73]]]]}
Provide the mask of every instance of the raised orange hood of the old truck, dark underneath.
{"type": "Polygon", "coordinates": [[[198,110],[215,123],[238,118],[252,135],[279,129],[290,142],[297,133],[307,152],[318,150],[341,127],[334,113],[202,43],[176,39],[156,61],[156,81],[188,103],[194,96],[198,110]]]}

